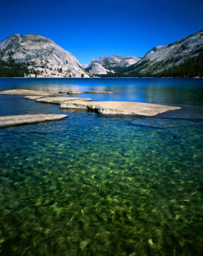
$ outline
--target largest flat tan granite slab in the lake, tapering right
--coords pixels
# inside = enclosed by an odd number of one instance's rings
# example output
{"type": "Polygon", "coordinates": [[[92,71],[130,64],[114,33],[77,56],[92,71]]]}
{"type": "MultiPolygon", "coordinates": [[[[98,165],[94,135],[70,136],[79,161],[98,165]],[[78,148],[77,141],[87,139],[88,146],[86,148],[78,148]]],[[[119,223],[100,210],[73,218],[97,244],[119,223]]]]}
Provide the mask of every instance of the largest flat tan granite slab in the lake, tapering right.
{"type": "Polygon", "coordinates": [[[93,101],[93,102],[62,102],[61,108],[90,109],[99,114],[119,116],[151,117],[180,107],[157,105],[140,102],[93,101]]]}

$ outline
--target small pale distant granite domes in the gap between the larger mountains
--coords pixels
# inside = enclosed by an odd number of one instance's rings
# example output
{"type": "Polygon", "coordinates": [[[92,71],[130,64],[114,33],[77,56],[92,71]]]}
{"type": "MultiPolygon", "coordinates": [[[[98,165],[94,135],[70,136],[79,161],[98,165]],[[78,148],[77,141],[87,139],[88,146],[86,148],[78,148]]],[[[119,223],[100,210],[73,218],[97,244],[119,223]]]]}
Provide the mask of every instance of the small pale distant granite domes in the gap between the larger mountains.
{"type": "Polygon", "coordinates": [[[86,69],[91,74],[107,74],[107,72],[114,72],[114,69],[118,67],[128,67],[133,65],[139,60],[141,60],[141,58],[119,55],[113,55],[111,57],[101,56],[98,60],[91,60],[86,69]]]}

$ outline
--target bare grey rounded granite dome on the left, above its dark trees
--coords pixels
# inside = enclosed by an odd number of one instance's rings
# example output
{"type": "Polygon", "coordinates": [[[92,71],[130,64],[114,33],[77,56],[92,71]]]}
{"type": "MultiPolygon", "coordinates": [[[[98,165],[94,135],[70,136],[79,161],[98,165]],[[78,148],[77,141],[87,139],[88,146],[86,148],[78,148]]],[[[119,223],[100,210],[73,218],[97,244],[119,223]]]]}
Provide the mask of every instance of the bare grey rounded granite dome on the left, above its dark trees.
{"type": "Polygon", "coordinates": [[[71,53],[41,35],[14,34],[3,40],[0,59],[7,61],[10,56],[17,63],[28,64],[30,76],[37,72],[38,77],[81,77],[82,74],[88,77],[71,53]]]}

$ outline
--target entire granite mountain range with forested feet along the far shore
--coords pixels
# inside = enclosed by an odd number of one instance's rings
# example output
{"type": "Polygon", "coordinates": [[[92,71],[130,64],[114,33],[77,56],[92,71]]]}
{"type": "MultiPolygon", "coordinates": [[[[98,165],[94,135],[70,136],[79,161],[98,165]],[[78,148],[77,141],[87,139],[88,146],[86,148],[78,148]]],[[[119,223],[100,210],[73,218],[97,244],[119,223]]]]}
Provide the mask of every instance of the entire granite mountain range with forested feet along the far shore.
{"type": "Polygon", "coordinates": [[[152,48],[143,58],[113,55],[81,65],[41,35],[14,34],[0,43],[0,77],[202,77],[203,31],[152,48]]]}

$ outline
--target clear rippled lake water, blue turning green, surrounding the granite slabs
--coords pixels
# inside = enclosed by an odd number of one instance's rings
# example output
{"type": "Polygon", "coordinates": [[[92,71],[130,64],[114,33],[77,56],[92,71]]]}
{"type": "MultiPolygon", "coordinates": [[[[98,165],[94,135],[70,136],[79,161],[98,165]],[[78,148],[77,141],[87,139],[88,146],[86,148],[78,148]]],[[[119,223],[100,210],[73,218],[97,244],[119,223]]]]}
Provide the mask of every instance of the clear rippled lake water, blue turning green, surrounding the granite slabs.
{"type": "MultiPolygon", "coordinates": [[[[202,255],[202,79],[0,79],[13,89],[180,106],[108,117],[0,95],[0,255],[202,255]]],[[[73,96],[76,97],[76,96],[73,96]]]]}

